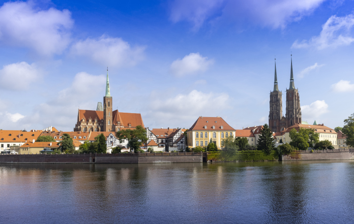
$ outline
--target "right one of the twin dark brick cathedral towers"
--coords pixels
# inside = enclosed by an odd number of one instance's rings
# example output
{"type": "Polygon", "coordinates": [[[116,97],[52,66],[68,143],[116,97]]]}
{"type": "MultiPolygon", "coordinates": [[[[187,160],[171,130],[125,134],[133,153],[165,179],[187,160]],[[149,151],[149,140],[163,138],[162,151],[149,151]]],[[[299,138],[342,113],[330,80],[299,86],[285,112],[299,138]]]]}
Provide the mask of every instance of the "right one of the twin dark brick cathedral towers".
{"type": "Polygon", "coordinates": [[[301,107],[298,90],[295,89],[293,75],[293,59],[291,59],[290,87],[286,91],[286,126],[289,128],[295,124],[301,125],[301,107]]]}

